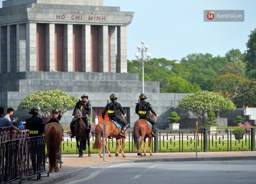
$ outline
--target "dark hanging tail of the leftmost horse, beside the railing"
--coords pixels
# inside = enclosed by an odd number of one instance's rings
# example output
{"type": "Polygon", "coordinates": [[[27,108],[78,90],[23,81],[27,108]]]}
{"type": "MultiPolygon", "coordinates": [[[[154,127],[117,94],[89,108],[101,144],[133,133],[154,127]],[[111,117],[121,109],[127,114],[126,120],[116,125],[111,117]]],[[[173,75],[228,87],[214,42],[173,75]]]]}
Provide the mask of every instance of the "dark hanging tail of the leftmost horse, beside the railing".
{"type": "Polygon", "coordinates": [[[56,126],[54,125],[50,126],[48,131],[48,139],[50,139],[51,141],[48,142],[48,144],[50,143],[50,145],[48,145],[48,148],[50,149],[47,149],[47,154],[48,154],[49,163],[51,164],[54,164],[57,160],[60,143],[61,143],[61,140],[59,140],[59,136],[56,135],[57,132],[58,131],[56,126]]]}

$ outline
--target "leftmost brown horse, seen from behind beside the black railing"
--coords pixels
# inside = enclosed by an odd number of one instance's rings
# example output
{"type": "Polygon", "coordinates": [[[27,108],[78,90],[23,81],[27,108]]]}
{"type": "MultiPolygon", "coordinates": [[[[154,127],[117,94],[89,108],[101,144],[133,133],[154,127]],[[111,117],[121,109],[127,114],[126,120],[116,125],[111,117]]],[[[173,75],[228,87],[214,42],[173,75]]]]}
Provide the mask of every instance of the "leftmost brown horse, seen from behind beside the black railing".
{"type": "Polygon", "coordinates": [[[59,171],[57,158],[62,136],[63,132],[61,124],[57,122],[50,122],[45,125],[45,143],[49,159],[49,172],[52,172],[52,170],[55,172],[59,171]]]}

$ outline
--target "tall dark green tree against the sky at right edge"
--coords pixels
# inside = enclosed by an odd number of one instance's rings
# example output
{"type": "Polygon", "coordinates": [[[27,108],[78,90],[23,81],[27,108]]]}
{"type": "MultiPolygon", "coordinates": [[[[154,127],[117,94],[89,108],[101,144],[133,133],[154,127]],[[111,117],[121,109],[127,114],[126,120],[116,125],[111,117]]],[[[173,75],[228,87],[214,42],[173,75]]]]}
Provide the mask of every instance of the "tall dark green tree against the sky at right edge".
{"type": "Polygon", "coordinates": [[[256,28],[251,31],[248,37],[249,40],[246,43],[247,50],[244,53],[244,61],[247,64],[247,74],[250,74],[248,78],[256,78],[256,28]]]}

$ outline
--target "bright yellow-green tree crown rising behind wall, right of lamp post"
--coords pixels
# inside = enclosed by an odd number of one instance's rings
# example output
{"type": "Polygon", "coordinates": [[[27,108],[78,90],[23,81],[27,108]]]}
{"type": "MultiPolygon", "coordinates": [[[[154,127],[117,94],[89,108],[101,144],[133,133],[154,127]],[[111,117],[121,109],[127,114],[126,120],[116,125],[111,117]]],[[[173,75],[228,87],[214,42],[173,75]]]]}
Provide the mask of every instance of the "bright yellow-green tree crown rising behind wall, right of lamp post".
{"type": "Polygon", "coordinates": [[[171,77],[167,84],[167,93],[195,93],[202,89],[196,83],[191,84],[182,77],[171,77]]]}

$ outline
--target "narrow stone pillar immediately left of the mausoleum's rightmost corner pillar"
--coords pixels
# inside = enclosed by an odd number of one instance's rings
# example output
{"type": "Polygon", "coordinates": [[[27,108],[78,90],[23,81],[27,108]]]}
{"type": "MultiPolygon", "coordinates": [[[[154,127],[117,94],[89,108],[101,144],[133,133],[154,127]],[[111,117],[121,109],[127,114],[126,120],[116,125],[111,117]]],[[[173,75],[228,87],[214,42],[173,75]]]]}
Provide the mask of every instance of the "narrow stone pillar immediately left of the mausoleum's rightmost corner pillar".
{"type": "Polygon", "coordinates": [[[109,26],[110,72],[116,73],[116,27],[109,26]]]}

